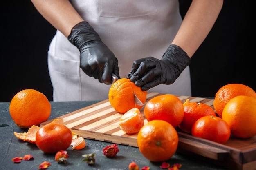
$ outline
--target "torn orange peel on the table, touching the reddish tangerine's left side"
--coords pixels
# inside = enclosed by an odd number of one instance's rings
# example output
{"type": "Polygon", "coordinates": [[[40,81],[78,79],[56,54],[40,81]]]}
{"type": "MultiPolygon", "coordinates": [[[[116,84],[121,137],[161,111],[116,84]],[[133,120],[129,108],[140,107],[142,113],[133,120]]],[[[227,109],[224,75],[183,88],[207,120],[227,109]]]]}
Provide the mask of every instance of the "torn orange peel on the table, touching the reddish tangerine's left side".
{"type": "Polygon", "coordinates": [[[33,125],[29,128],[29,130],[27,132],[24,132],[24,133],[13,132],[13,133],[16,137],[18,137],[18,139],[20,139],[22,141],[27,141],[32,144],[36,144],[36,132],[39,129],[40,129],[39,126],[33,125]]]}

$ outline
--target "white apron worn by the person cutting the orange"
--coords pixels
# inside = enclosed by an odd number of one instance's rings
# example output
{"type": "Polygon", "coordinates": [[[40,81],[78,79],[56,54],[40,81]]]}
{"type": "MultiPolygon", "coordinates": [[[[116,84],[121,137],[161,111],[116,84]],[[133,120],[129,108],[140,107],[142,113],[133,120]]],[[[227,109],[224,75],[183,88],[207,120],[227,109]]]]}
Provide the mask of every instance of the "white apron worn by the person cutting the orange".
{"type": "MultiPolygon", "coordinates": [[[[178,0],[70,0],[118,59],[120,77],[143,57],[161,59],[182,18],[178,0]]],[[[108,99],[110,85],[99,83],[79,68],[79,50],[59,31],[48,51],[54,101],[108,99]]],[[[171,85],[148,91],[191,96],[189,67],[171,85]]]]}

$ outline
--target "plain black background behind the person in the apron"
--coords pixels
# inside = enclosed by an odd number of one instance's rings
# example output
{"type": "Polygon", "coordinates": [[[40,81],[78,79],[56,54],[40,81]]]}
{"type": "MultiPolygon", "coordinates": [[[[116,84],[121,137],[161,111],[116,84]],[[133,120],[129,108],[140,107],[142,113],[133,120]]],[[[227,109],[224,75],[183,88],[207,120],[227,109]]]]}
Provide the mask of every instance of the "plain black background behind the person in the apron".
{"type": "MultiPolygon", "coordinates": [[[[255,8],[250,0],[224,0],[213,29],[192,57],[192,96],[214,97],[221,86],[241,83],[256,90],[255,8]]],[[[180,0],[186,13],[191,0],[180,0]]],[[[25,88],[52,101],[47,51],[56,29],[30,0],[1,1],[0,102],[25,88]]]]}

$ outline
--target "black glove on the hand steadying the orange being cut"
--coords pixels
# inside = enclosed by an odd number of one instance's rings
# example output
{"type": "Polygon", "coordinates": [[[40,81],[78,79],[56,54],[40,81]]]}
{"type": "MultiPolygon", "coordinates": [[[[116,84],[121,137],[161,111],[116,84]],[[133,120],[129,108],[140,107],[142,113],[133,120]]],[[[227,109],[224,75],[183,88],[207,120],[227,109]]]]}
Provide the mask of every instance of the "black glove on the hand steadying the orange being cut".
{"type": "Polygon", "coordinates": [[[173,84],[180,73],[191,63],[191,58],[177,45],[170,45],[161,60],[146,57],[133,62],[127,75],[131,82],[140,86],[142,91],[159,84],[173,84]]]}

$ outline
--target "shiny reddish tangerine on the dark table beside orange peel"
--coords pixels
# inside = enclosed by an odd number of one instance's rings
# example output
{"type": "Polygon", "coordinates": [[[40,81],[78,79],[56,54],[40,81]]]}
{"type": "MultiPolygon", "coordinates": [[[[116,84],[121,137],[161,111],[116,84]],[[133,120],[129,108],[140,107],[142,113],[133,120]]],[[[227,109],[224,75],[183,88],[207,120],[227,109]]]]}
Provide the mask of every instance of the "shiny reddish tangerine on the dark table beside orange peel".
{"type": "Polygon", "coordinates": [[[72,132],[63,124],[49,123],[36,132],[36,146],[45,153],[66,150],[72,142],[72,132]]]}

